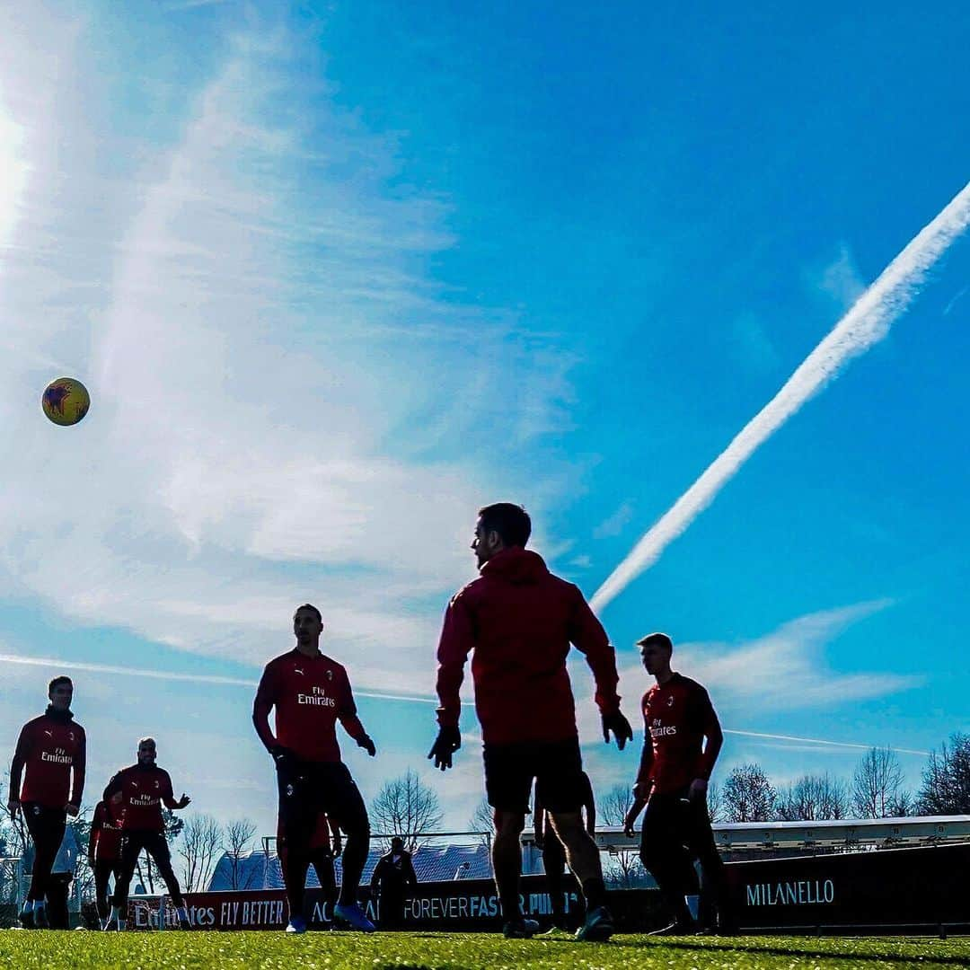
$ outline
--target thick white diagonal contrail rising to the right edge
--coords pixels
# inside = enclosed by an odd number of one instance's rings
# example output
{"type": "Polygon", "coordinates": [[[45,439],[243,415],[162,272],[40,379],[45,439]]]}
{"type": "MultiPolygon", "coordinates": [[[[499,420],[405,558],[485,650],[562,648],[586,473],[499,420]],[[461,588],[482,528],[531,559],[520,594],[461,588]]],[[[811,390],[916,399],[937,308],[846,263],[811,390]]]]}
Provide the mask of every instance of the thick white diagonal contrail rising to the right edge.
{"type": "Polygon", "coordinates": [[[633,546],[627,558],[597,590],[591,600],[594,609],[601,610],[644,569],[656,563],[666,546],[714,501],[718,492],[761,444],[852,358],[886,337],[892,321],[912,303],[927,272],[967,225],[970,225],[970,183],[889,263],[882,275],[792,373],[785,386],[633,546]]]}

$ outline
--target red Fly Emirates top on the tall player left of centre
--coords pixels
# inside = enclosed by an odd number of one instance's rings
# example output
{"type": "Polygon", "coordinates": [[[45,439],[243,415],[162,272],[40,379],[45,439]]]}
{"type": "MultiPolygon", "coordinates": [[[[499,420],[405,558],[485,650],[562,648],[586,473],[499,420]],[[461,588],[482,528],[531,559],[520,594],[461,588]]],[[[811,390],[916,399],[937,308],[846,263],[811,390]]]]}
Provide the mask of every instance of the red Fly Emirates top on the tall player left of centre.
{"type": "Polygon", "coordinates": [[[367,737],[350,679],[337,661],[294,649],[267,663],[252,705],[252,723],[267,750],[279,745],[300,760],[339,761],[338,721],[358,743],[367,737]],[[274,708],[275,736],[270,727],[274,708]]]}

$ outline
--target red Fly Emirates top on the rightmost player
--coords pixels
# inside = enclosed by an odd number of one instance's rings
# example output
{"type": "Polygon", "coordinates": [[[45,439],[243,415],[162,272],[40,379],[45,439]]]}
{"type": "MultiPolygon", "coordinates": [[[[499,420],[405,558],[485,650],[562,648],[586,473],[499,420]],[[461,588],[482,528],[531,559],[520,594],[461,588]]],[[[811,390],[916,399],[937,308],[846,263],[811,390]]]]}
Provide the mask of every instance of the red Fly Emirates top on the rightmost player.
{"type": "Polygon", "coordinates": [[[651,786],[658,794],[679,792],[695,778],[710,778],[724,735],[707,692],[675,673],[647,691],[640,706],[644,739],[636,783],[643,794],[651,786]]]}

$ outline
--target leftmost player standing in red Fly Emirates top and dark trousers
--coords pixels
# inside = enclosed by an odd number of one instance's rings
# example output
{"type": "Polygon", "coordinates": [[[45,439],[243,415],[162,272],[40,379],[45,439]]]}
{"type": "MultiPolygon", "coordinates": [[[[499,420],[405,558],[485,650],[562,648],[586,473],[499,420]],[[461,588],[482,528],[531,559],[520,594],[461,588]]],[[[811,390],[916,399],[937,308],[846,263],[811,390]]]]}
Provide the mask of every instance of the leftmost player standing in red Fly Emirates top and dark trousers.
{"type": "Polygon", "coordinates": [[[71,713],[73,697],[70,677],[50,681],[48,709],[23,726],[10,766],[7,807],[15,818],[23,812],[35,848],[30,889],[20,913],[25,927],[49,926],[45,899],[50,868],[64,840],[67,817],[81,809],[87,741],[84,728],[71,713]]]}

